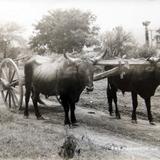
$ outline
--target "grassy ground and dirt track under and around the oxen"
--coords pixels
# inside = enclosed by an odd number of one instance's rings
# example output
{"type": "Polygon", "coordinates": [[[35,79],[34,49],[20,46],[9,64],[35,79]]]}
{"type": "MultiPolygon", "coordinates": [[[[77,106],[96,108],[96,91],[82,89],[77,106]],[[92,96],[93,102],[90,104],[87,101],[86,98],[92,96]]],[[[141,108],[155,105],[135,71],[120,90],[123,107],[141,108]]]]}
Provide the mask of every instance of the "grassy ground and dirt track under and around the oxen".
{"type": "Polygon", "coordinates": [[[138,124],[131,123],[131,97],[118,93],[121,120],[107,111],[106,80],[95,82],[92,93],[82,94],[76,106],[78,126],[63,125],[63,108],[55,98],[40,106],[45,120],[37,120],[33,107],[25,119],[23,111],[11,113],[0,101],[0,159],[59,160],[66,136],[76,137],[74,160],[158,160],[160,159],[160,92],[152,98],[156,125],[148,123],[144,102],[139,98],[138,124]]]}

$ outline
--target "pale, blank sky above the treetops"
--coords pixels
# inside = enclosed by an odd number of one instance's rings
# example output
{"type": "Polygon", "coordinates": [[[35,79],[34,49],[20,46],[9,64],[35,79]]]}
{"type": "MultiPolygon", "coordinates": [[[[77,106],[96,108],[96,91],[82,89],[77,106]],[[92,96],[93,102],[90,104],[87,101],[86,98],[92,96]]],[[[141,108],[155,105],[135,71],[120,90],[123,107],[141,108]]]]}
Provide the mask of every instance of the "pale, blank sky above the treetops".
{"type": "Polygon", "coordinates": [[[150,21],[149,29],[160,28],[160,0],[0,0],[0,23],[16,22],[25,29],[24,36],[29,37],[33,24],[49,10],[70,8],[95,14],[101,32],[122,26],[141,44],[142,22],[150,21]]]}

